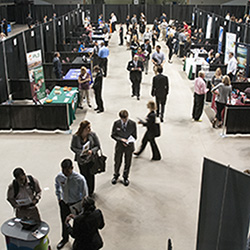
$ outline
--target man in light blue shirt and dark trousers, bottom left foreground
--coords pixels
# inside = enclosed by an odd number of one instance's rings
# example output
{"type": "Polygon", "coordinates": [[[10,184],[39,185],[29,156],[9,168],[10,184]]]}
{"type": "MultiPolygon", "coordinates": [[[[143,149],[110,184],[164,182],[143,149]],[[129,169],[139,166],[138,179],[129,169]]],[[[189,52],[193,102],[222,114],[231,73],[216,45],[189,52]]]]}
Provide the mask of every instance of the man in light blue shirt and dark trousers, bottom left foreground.
{"type": "Polygon", "coordinates": [[[62,240],[57,244],[57,249],[62,249],[69,241],[69,233],[65,220],[71,210],[75,213],[81,211],[81,202],[88,196],[88,187],[85,178],[73,171],[73,163],[70,159],[61,162],[62,171],[55,178],[56,196],[60,208],[62,222],[62,240]]]}

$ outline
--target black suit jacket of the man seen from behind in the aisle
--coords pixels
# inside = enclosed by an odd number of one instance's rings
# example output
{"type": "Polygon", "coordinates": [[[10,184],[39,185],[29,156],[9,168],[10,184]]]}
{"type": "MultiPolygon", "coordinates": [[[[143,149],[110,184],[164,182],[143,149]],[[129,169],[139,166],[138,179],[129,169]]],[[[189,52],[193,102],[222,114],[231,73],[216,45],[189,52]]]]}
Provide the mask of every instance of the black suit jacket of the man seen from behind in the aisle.
{"type": "Polygon", "coordinates": [[[161,101],[166,101],[169,92],[168,77],[158,74],[153,78],[151,95],[161,101]]]}

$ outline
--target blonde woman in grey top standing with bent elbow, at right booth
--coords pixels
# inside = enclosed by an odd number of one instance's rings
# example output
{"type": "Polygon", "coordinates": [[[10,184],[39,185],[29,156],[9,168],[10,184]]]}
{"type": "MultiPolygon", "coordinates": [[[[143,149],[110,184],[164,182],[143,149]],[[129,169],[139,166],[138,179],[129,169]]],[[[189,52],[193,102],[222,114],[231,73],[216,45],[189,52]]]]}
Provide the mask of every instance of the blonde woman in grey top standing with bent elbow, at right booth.
{"type": "Polygon", "coordinates": [[[216,85],[211,89],[211,92],[216,95],[215,102],[216,102],[216,116],[212,121],[213,128],[216,126],[217,120],[218,128],[222,126],[222,118],[221,113],[227,104],[227,100],[229,98],[229,103],[231,103],[231,94],[232,94],[232,86],[229,76],[224,76],[222,82],[216,85]],[[217,91],[216,91],[217,90],[217,91]]]}

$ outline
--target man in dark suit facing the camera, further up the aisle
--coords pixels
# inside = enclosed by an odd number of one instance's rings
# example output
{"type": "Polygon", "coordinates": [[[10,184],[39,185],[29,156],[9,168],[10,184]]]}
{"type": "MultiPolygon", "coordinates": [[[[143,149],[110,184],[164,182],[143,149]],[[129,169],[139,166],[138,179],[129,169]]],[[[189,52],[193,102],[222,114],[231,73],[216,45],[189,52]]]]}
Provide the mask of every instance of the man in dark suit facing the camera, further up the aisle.
{"type": "Polygon", "coordinates": [[[134,56],[132,61],[128,62],[127,70],[130,72],[129,78],[132,82],[132,97],[137,96],[137,100],[140,100],[140,84],[143,63],[139,61],[139,57],[137,55],[134,56]]]}

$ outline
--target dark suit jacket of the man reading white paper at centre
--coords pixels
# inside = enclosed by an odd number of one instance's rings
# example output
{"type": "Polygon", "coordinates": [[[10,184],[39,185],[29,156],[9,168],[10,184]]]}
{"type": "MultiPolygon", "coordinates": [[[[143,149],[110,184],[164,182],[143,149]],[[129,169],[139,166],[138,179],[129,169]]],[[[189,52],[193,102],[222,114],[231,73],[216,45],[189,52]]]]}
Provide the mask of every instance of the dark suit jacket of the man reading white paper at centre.
{"type": "MultiPolygon", "coordinates": [[[[114,122],[111,137],[117,142],[117,144],[123,145],[121,139],[128,139],[130,135],[137,139],[136,123],[134,121],[128,120],[126,131],[123,131],[122,129],[121,119],[114,122]]],[[[129,146],[134,147],[134,143],[130,143],[129,146]]]]}

